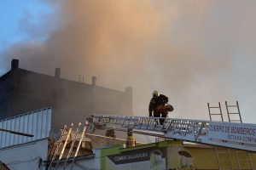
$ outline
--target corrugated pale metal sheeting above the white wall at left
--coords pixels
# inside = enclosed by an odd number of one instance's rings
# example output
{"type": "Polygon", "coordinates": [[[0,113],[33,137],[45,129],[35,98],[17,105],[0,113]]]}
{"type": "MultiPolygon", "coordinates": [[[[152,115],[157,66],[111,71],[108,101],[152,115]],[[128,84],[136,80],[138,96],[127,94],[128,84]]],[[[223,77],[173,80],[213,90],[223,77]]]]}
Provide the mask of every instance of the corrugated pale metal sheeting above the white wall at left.
{"type": "Polygon", "coordinates": [[[0,128],[33,134],[34,137],[0,132],[0,148],[48,138],[51,125],[51,111],[51,108],[46,108],[1,120],[0,128]]]}

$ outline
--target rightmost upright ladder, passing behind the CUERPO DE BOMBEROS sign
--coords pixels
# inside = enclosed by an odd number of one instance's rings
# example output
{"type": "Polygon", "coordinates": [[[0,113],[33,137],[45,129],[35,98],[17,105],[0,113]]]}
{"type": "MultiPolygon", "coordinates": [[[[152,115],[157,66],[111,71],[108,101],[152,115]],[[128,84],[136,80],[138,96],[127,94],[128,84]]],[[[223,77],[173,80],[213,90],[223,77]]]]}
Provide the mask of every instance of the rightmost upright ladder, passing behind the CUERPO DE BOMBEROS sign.
{"type": "MultiPolygon", "coordinates": [[[[240,123],[242,123],[242,121],[241,121],[241,112],[240,112],[240,109],[239,109],[238,101],[236,101],[236,105],[228,105],[228,102],[225,101],[225,106],[226,106],[226,111],[227,111],[227,114],[228,114],[229,122],[240,122],[240,123]],[[236,108],[237,112],[230,112],[230,108],[236,108]],[[236,119],[233,119],[234,116],[236,116],[236,119]]],[[[238,163],[239,170],[243,170],[243,169],[253,170],[253,162],[252,162],[251,154],[250,154],[249,151],[236,150],[236,160],[237,160],[237,163],[238,163]],[[243,157],[245,157],[245,158],[241,159],[241,155],[243,155],[243,157]]]]}

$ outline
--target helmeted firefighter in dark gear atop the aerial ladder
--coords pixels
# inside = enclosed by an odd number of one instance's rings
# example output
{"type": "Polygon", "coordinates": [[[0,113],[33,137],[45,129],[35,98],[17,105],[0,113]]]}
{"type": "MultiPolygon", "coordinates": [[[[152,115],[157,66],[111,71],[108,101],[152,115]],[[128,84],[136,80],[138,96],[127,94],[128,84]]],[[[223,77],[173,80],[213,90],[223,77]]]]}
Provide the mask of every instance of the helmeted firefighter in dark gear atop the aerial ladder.
{"type": "Polygon", "coordinates": [[[168,98],[164,94],[159,94],[157,90],[153,91],[153,97],[148,105],[149,116],[161,117],[160,124],[164,123],[164,118],[168,115],[168,111],[173,111],[172,105],[168,104],[168,98]]]}

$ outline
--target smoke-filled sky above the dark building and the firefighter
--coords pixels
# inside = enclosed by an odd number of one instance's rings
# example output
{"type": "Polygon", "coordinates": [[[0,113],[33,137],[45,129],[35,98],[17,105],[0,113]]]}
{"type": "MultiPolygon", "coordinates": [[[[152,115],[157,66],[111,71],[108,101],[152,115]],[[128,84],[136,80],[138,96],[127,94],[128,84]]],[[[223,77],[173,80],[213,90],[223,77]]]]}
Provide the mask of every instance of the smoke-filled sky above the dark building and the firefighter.
{"type": "MultiPolygon", "coordinates": [[[[256,3],[239,1],[3,0],[0,75],[12,58],[26,70],[124,91],[148,116],[153,90],[166,94],[169,117],[209,119],[207,102],[240,104],[256,123],[256,3]]],[[[225,116],[226,118],[226,116],[225,116]]]]}

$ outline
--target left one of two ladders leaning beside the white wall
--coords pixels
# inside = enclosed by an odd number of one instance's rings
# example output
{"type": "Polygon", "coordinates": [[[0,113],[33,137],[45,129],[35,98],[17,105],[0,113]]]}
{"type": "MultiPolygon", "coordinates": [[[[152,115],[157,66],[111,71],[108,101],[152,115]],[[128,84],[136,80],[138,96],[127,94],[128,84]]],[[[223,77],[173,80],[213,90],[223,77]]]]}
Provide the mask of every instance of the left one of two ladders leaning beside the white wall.
{"type": "Polygon", "coordinates": [[[73,123],[70,125],[68,132],[66,131],[67,126],[66,125],[64,126],[64,128],[62,130],[62,133],[61,133],[61,137],[58,140],[58,144],[57,144],[57,146],[55,148],[55,153],[54,153],[54,155],[53,155],[53,157],[52,157],[52,159],[51,159],[51,161],[49,163],[49,167],[48,167],[49,170],[53,167],[53,164],[55,164],[55,168],[54,169],[57,169],[58,164],[59,164],[59,162],[60,162],[60,160],[61,160],[61,158],[62,158],[62,156],[64,154],[64,151],[66,149],[69,136],[70,136],[70,134],[72,132],[72,128],[73,128],[73,123]],[[67,137],[66,137],[65,143],[61,146],[61,142],[62,142],[62,139],[63,139],[64,136],[67,136],[67,137]],[[60,156],[57,159],[55,159],[56,156],[58,155],[60,149],[61,149],[61,154],[60,154],[60,156]]]}

